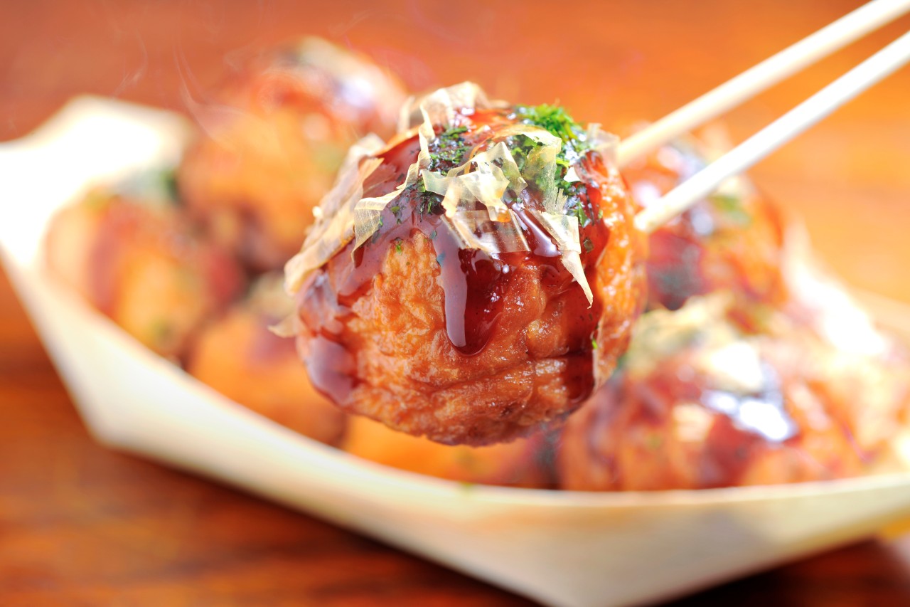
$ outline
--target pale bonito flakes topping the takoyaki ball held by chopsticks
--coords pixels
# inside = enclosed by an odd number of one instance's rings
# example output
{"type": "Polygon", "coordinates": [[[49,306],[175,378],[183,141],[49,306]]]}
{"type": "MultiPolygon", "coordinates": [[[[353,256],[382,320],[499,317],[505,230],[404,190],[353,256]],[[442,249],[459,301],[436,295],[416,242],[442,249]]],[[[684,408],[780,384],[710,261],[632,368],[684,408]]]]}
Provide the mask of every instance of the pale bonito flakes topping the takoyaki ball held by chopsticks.
{"type": "MultiPolygon", "coordinates": [[[[512,200],[533,183],[541,194],[542,210],[530,210],[541,227],[556,243],[561,262],[581,285],[593,302],[591,286],[581,264],[581,243],[578,218],[567,214],[566,197],[557,186],[556,159],[562,149],[562,139],[546,129],[533,125],[515,124],[498,130],[498,141],[489,149],[476,154],[445,174],[430,171],[430,141],[436,129],[456,129],[467,126],[474,109],[507,107],[490,101],[477,85],[465,82],[440,88],[420,100],[411,100],[402,108],[399,120],[401,133],[394,141],[413,137],[420,141],[417,160],[409,167],[405,180],[389,193],[361,198],[363,180],[379,167],[376,156],[383,146],[375,136],[361,139],[351,149],[332,190],[319,205],[317,222],[309,232],[301,251],[285,267],[286,288],[295,293],[309,273],[343,249],[351,240],[355,249],[367,242],[381,227],[381,213],[410,186],[421,185],[424,190],[442,197],[445,211],[443,223],[448,225],[461,248],[479,249],[490,255],[505,252],[528,252],[527,239],[521,221],[504,199],[511,192],[512,200]],[[411,126],[420,111],[420,124],[411,126]],[[531,139],[533,147],[519,169],[510,144],[522,138],[531,139]],[[482,207],[480,207],[482,205],[482,207]]],[[[592,149],[612,160],[617,139],[592,124],[585,139],[592,149]]],[[[574,169],[566,176],[579,180],[574,169]]]]}

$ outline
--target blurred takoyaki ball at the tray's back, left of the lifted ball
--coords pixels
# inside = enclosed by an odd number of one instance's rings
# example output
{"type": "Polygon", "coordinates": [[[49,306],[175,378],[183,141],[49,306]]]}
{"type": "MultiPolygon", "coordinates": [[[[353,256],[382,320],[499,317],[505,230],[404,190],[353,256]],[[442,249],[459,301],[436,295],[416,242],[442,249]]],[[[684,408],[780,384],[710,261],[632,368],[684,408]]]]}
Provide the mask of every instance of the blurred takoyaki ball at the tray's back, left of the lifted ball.
{"type": "Polygon", "coordinates": [[[255,271],[300,248],[349,146],[394,132],[399,82],[319,38],[251,57],[195,115],[178,184],[217,242],[255,271]]]}

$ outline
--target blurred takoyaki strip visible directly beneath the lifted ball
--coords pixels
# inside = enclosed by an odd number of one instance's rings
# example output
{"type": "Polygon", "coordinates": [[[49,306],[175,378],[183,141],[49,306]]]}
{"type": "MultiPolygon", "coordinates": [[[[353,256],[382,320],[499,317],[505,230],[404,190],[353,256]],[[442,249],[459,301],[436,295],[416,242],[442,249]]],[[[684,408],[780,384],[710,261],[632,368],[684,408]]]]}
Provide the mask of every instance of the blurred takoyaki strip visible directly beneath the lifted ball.
{"type": "Polygon", "coordinates": [[[466,483],[539,489],[553,484],[551,443],[542,433],[488,447],[450,446],[351,416],[341,448],[393,468],[466,483]]]}

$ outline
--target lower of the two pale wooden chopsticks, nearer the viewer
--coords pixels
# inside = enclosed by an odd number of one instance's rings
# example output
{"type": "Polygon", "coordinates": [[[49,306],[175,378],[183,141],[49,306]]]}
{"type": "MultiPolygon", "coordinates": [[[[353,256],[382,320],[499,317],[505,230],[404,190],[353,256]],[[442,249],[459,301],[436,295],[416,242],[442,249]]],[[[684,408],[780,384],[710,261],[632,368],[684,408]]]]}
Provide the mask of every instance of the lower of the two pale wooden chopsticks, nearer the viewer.
{"type": "Polygon", "coordinates": [[[806,99],[781,118],[746,139],[721,158],[667,192],[635,216],[635,226],[652,232],[710,194],[720,183],[813,126],[850,99],[910,61],[910,32],[806,99]]]}

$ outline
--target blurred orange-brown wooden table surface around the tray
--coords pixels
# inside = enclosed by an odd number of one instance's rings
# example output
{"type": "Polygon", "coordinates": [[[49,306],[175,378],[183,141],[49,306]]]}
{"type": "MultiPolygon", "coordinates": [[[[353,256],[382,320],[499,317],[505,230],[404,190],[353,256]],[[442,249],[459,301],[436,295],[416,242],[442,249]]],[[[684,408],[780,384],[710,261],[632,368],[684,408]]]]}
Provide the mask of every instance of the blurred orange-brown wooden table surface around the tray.
{"type": "MultiPolygon", "coordinates": [[[[232,53],[316,34],[415,89],[474,79],[606,126],[658,118],[855,1],[171,3],[0,7],[0,139],[79,93],[173,108],[232,53]]],[[[910,26],[903,19],[731,113],[743,139],[910,26]]],[[[910,71],[752,171],[847,280],[910,301],[910,71]]],[[[49,177],[53,176],[53,170],[49,177]]],[[[0,201],[27,204],[27,201],[0,201]]],[[[910,515],[910,513],[908,513],[910,515]]],[[[0,273],[0,604],[508,605],[525,600],[308,516],[97,446],[0,273]]],[[[679,604],[910,604],[910,535],[679,604]]]]}

